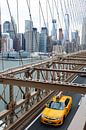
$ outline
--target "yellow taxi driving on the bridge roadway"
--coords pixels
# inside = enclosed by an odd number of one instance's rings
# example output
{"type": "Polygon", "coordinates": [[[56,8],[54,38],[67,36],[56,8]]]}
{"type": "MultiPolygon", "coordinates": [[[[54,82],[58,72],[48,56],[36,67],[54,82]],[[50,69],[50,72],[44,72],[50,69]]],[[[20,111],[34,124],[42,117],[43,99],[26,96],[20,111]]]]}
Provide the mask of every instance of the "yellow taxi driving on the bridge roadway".
{"type": "Polygon", "coordinates": [[[40,121],[44,124],[58,126],[64,123],[65,117],[68,115],[72,105],[72,97],[61,95],[59,98],[54,96],[50,102],[46,104],[40,121]]]}

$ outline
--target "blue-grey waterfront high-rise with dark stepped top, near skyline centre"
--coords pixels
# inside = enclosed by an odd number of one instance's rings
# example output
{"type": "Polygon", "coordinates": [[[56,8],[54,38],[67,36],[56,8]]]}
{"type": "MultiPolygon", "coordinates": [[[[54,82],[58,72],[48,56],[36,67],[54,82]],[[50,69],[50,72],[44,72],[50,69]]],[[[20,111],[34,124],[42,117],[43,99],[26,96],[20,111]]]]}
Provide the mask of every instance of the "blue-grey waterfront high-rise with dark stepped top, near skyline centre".
{"type": "Polygon", "coordinates": [[[40,34],[40,44],[39,44],[39,51],[40,52],[47,52],[47,33],[48,30],[46,27],[41,28],[41,34],[40,34]]]}

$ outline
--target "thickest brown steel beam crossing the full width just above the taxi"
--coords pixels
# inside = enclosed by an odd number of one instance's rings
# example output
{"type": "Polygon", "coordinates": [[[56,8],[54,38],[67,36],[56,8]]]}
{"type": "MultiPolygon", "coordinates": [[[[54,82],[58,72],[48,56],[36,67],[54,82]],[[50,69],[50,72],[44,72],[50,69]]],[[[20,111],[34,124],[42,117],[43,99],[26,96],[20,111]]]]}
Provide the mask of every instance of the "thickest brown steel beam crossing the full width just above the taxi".
{"type": "Polygon", "coordinates": [[[67,82],[39,82],[14,78],[0,78],[0,83],[11,84],[22,87],[34,87],[37,89],[71,91],[86,94],[86,84],[75,84],[67,82]]]}

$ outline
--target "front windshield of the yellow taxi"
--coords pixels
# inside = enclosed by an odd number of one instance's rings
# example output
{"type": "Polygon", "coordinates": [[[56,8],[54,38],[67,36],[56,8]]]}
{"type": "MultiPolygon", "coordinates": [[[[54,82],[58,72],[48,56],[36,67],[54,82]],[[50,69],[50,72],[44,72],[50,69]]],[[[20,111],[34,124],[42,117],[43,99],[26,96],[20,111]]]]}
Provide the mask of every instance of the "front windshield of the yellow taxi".
{"type": "Polygon", "coordinates": [[[50,102],[48,104],[48,108],[52,108],[52,109],[56,109],[56,110],[63,110],[64,102],[50,102]]]}

